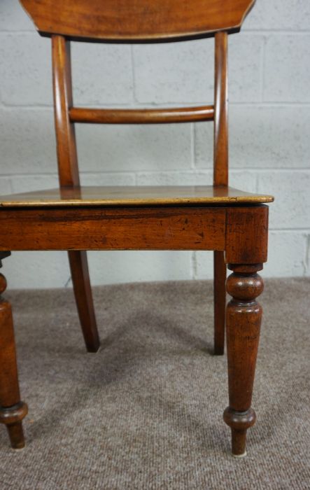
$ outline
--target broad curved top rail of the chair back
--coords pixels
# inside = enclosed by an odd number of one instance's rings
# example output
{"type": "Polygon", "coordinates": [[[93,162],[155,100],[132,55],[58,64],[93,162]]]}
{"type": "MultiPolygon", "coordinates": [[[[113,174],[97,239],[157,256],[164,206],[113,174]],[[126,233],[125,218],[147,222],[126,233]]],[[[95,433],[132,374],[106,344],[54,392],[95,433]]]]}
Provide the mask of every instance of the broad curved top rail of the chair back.
{"type": "Polygon", "coordinates": [[[42,34],[98,41],[206,36],[239,30],[255,0],[20,0],[42,34]]]}

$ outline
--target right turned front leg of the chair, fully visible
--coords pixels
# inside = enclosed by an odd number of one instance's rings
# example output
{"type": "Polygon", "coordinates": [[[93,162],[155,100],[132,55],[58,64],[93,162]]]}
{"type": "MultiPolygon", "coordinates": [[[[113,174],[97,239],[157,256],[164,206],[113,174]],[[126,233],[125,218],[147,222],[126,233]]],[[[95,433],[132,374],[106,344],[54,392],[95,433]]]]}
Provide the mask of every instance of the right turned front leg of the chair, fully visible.
{"type": "Polygon", "coordinates": [[[262,307],[255,298],[262,293],[262,265],[228,265],[232,300],[226,308],[227,363],[230,405],[224,420],[232,430],[232,454],[246,455],[246,430],[255,423],[251,408],[262,307]]]}

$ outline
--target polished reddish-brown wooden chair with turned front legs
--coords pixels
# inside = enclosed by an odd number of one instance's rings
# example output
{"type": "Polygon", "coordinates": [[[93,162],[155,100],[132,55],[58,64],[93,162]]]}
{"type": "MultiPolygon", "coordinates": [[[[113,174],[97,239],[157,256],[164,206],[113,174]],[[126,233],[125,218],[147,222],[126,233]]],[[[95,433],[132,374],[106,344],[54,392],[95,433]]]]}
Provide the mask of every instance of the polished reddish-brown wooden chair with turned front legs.
{"type": "MultiPolygon", "coordinates": [[[[99,349],[86,250],[214,251],[214,351],[223,354],[226,308],[232,453],[246,454],[255,422],[251,396],[262,309],[257,274],[267,260],[265,203],[273,198],[228,188],[227,34],[239,31],[255,0],[21,0],[43,36],[52,38],[59,190],[0,198],[0,259],[8,251],[67,250],[87,351],[99,349]],[[215,102],[183,109],[111,110],[73,106],[70,41],[162,42],[215,36],[215,102]],[[83,187],[74,123],[214,121],[213,186],[83,187]]],[[[1,275],[1,293],[6,281],[1,275]]],[[[34,312],[35,314],[35,312],[34,312]]],[[[0,303],[0,421],[13,448],[24,447],[10,304],[0,303]]],[[[130,423],[130,421],[128,421],[130,423]]]]}

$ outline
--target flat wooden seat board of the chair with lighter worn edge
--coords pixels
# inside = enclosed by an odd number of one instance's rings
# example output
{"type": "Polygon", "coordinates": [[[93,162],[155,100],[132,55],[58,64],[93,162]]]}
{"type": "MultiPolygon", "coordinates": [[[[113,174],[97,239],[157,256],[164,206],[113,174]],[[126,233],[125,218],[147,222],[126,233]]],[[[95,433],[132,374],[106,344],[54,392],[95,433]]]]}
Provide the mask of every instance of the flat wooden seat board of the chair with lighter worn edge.
{"type": "Polygon", "coordinates": [[[151,206],[191,204],[260,204],[270,195],[245,193],[223,186],[101,186],[37,190],[0,196],[1,207],[151,206]]]}

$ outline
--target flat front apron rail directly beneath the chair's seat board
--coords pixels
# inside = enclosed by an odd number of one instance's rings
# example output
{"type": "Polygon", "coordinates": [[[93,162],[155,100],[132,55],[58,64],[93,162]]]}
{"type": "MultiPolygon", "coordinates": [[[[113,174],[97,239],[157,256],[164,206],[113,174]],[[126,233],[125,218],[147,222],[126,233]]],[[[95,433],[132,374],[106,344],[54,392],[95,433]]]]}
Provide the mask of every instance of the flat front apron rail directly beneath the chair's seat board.
{"type": "Polygon", "coordinates": [[[226,210],[0,209],[0,250],[224,250],[226,210]]]}

